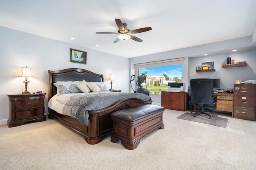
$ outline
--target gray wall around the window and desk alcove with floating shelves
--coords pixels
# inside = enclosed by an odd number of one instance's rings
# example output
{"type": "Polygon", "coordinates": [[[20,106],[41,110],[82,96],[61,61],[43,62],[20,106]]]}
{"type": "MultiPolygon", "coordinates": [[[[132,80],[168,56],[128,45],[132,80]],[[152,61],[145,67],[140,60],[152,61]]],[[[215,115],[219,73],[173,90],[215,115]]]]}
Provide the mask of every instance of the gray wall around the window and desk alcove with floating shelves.
{"type": "MultiPolygon", "coordinates": [[[[232,88],[236,79],[242,81],[246,79],[256,79],[256,50],[232,52],[220,55],[208,55],[203,56],[204,53],[216,52],[225,49],[238,49],[242,46],[248,46],[251,44],[251,37],[237,38],[233,40],[227,40],[223,42],[216,42],[204,45],[198,45],[195,47],[188,47],[184,49],[177,49],[174,51],[166,51],[163,53],[157,53],[152,55],[146,55],[141,57],[135,57],[130,59],[130,75],[136,74],[136,63],[144,63],[149,61],[159,61],[165,59],[173,59],[184,57],[182,67],[182,81],[186,83],[186,90],[188,89],[189,81],[192,78],[219,78],[221,79],[222,89],[232,88]],[[199,53],[201,55],[199,55],[199,53]],[[197,55],[198,54],[198,55],[197,55]],[[191,57],[195,56],[197,57],[191,57]],[[203,57],[202,57],[203,56],[203,57]],[[234,67],[234,68],[222,68],[222,63],[226,63],[226,57],[232,57],[235,61],[246,61],[247,67],[234,67]],[[196,73],[196,66],[201,66],[203,62],[214,61],[215,72],[196,73]]],[[[135,87],[135,84],[133,85],[135,87]]],[[[131,91],[131,89],[130,89],[131,91]]],[[[150,95],[153,103],[160,105],[160,95],[150,95]]]]}

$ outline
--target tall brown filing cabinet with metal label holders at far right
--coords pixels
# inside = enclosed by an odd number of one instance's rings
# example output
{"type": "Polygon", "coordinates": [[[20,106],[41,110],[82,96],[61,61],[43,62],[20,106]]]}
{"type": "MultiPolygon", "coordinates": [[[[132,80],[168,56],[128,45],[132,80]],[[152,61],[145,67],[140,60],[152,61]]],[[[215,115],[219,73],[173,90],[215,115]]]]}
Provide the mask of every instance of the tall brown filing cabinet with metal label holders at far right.
{"type": "Polygon", "coordinates": [[[234,118],[255,121],[255,84],[234,84],[234,118]]]}

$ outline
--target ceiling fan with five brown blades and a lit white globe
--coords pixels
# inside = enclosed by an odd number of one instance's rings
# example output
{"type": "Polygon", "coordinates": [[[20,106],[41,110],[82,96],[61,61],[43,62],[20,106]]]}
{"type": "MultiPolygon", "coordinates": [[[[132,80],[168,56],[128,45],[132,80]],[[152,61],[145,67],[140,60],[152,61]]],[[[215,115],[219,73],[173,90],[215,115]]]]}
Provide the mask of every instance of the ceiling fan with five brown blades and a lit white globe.
{"type": "Polygon", "coordinates": [[[127,27],[126,23],[122,23],[120,19],[115,19],[116,20],[116,25],[118,26],[119,30],[118,32],[96,32],[96,34],[119,34],[118,38],[114,41],[114,43],[119,42],[120,40],[129,40],[132,39],[136,42],[143,42],[138,37],[132,36],[131,34],[136,34],[136,33],[141,33],[141,32],[146,32],[152,30],[151,27],[145,27],[145,28],[139,28],[136,30],[129,30],[127,27]]]}

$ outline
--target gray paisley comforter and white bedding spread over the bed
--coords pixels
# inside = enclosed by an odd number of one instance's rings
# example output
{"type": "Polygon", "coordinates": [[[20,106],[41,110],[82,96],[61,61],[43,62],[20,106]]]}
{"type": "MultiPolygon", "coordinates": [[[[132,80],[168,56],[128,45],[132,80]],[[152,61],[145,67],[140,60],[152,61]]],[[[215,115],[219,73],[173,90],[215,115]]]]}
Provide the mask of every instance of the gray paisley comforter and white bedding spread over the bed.
{"type": "Polygon", "coordinates": [[[60,114],[74,117],[83,125],[88,126],[89,111],[96,111],[112,105],[113,103],[126,98],[138,98],[144,101],[151,101],[151,97],[143,93],[117,93],[100,91],[97,93],[68,93],[54,95],[48,107],[60,114]]]}

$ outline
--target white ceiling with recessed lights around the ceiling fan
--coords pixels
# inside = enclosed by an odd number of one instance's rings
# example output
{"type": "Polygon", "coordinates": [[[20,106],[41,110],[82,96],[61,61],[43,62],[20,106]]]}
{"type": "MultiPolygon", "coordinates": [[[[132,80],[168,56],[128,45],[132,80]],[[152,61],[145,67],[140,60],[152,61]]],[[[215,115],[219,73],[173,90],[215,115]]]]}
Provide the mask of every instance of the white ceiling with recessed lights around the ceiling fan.
{"type": "Polygon", "coordinates": [[[251,36],[255,24],[256,0],[0,0],[0,26],[127,58],[251,36]],[[95,34],[117,32],[115,18],[152,30],[132,34],[142,43],[95,34]]]}

